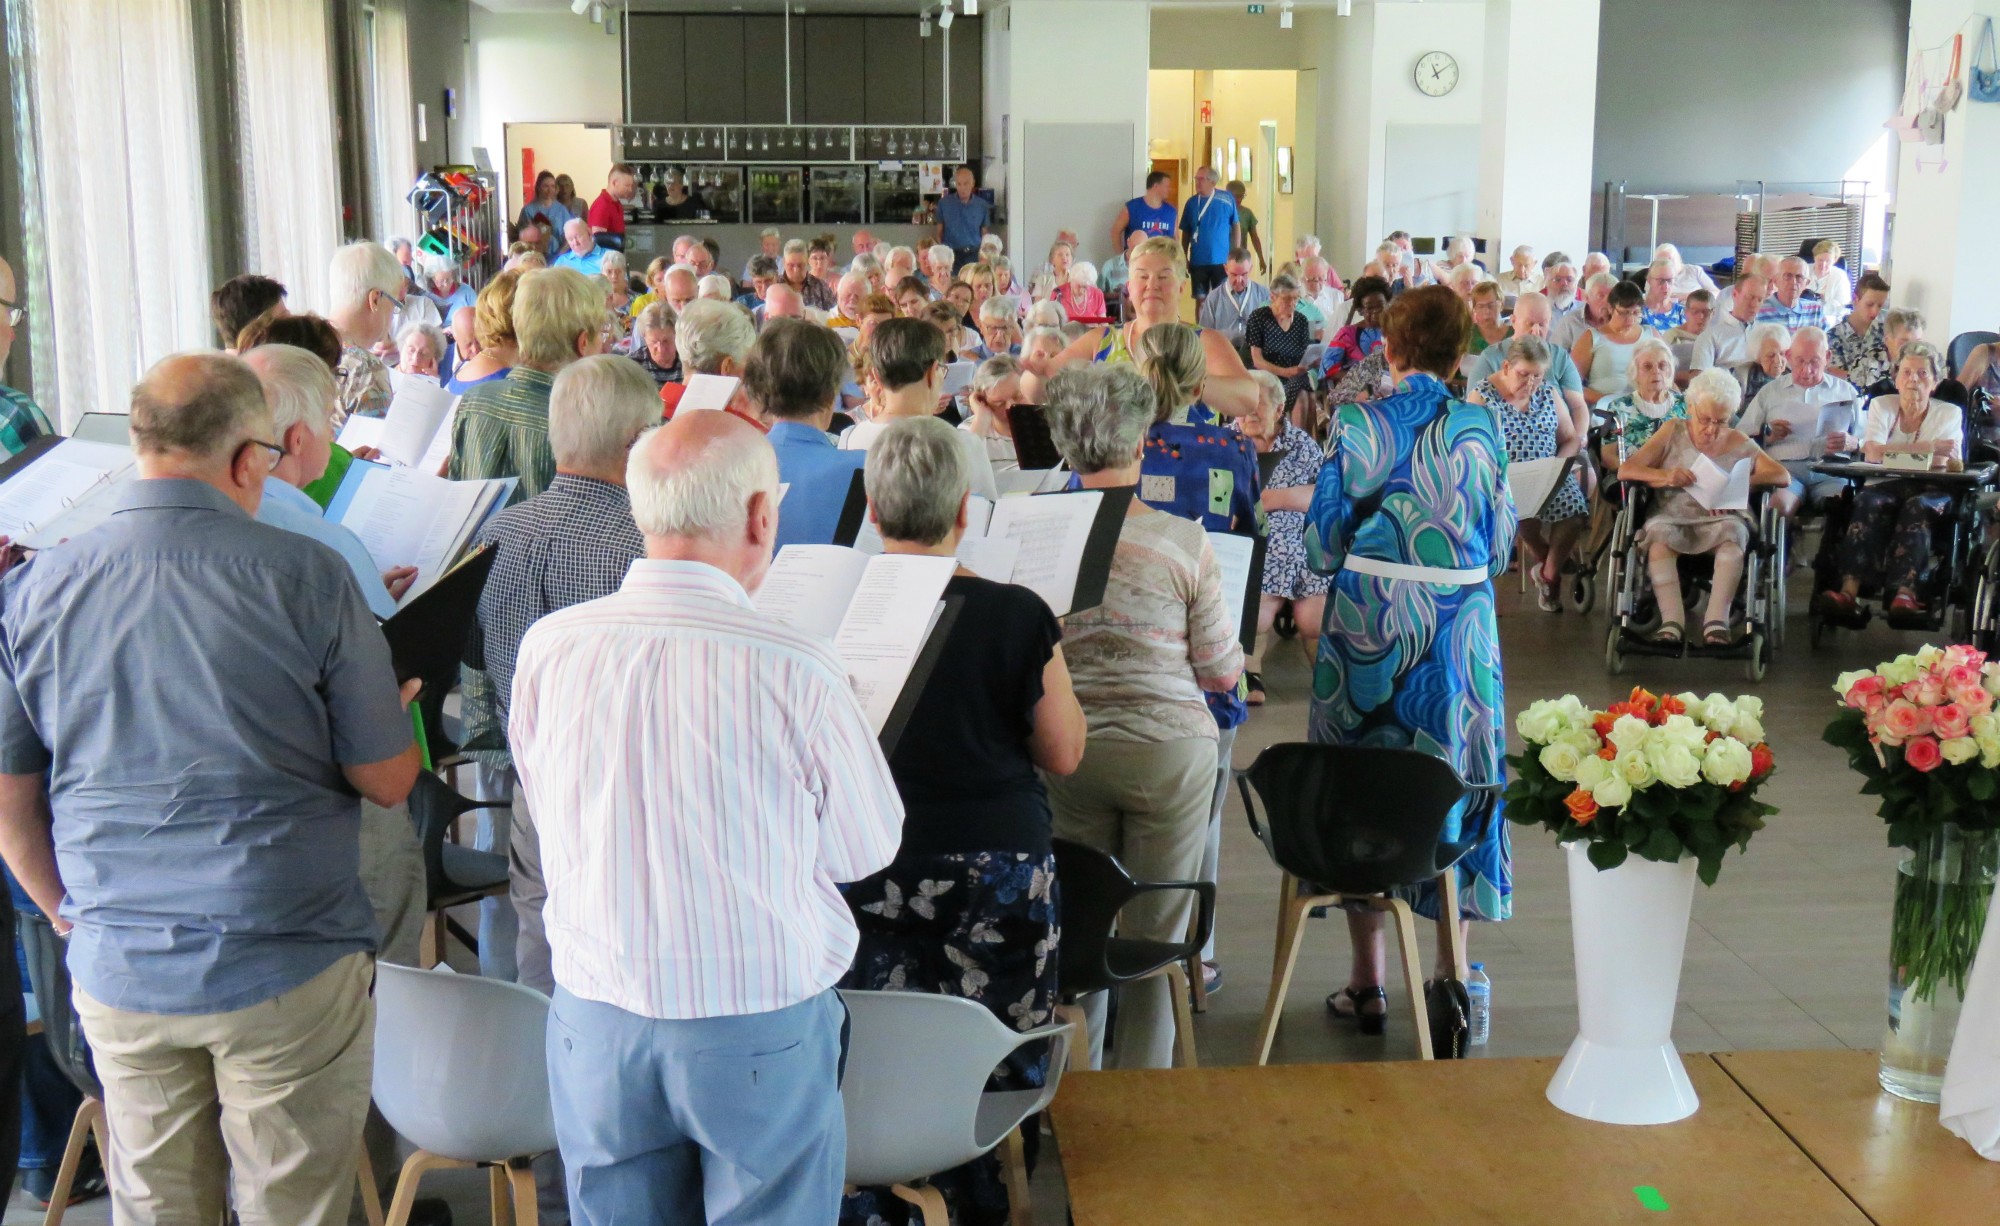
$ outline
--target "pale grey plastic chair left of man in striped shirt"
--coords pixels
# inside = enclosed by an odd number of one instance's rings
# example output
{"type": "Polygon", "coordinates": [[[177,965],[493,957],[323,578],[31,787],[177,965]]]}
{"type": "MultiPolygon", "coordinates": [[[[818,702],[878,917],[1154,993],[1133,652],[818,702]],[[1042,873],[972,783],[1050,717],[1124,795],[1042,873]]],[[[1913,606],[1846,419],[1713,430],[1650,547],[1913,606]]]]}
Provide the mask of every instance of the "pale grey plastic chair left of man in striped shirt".
{"type": "Polygon", "coordinates": [[[376,966],[374,1100],[418,1150],[402,1164],[388,1226],[406,1226],[430,1170],[492,1170],[494,1220],[536,1226],[536,1154],[556,1148],[548,1106],[548,998],[448,970],[376,966]]]}

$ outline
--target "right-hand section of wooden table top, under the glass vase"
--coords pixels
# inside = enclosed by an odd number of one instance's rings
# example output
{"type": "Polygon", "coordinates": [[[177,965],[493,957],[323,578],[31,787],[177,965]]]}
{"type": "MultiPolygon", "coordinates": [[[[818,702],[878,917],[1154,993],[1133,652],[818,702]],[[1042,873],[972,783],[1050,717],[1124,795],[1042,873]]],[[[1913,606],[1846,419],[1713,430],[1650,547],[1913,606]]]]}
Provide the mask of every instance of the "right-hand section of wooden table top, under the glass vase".
{"type": "Polygon", "coordinates": [[[1874,1052],[1732,1052],[1716,1062],[1876,1226],[2000,1220],[2000,1162],[1946,1132],[1938,1108],[1884,1092],[1874,1052]]]}

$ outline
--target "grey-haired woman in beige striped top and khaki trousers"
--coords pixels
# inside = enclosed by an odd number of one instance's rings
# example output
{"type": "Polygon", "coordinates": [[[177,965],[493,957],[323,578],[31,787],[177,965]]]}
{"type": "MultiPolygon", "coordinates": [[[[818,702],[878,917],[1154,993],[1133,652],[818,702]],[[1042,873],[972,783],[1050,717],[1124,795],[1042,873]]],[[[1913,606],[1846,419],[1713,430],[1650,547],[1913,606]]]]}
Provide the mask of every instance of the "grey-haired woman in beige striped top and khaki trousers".
{"type": "MultiPolygon", "coordinates": [[[[1128,362],[1068,366],[1048,382],[1050,432],[1086,490],[1138,484],[1154,406],[1128,362]]],[[[1216,720],[1202,694],[1230,692],[1242,674],[1240,604],[1240,592],[1222,592],[1200,524],[1130,500],[1104,602],[1064,618],[1088,750],[1074,774],[1046,780],[1058,838],[1116,856],[1140,880],[1200,872],[1216,788],[1216,720]]],[[[1146,896],[1120,914],[1120,936],[1180,940],[1190,906],[1184,892],[1146,896]]],[[[1166,978],[1120,990],[1120,1068],[1172,1062],[1170,992],[1166,978]]],[[[1104,996],[1084,1010],[1100,1066],[1104,996]]]]}

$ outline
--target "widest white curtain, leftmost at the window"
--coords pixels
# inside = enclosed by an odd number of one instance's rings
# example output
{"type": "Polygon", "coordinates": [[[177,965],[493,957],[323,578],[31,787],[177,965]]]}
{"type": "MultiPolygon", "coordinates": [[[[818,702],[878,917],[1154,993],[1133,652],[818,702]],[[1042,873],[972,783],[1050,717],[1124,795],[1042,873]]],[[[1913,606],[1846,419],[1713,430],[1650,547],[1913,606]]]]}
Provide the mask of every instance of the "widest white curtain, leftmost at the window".
{"type": "MultiPolygon", "coordinates": [[[[54,378],[74,426],[126,412],[160,358],[208,348],[208,220],[186,0],[14,4],[28,40],[54,378]]],[[[46,332],[44,332],[46,330],[46,332]]],[[[48,394],[48,388],[54,394],[48,394]]],[[[50,404],[52,402],[52,404],[50,404]]]]}

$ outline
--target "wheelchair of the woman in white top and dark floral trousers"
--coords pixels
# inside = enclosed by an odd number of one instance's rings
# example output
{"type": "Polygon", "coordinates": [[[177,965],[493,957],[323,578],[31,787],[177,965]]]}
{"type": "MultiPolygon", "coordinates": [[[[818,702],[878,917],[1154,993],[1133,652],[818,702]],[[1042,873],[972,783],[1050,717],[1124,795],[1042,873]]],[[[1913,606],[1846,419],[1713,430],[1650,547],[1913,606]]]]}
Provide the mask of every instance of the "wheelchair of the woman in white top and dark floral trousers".
{"type": "MultiPolygon", "coordinates": [[[[1978,454],[1978,448],[1974,448],[1978,454]]],[[[1994,540],[1994,522],[2000,492],[1994,476],[2000,472],[1992,460],[1978,460],[1960,472],[1902,472],[1880,464],[1830,458],[1814,464],[1814,472],[1836,476],[1846,488],[1826,502],[1826,528],[1820,536],[1820,550],[1812,560],[1812,646],[1830,642],[1836,630],[1862,630],[1880,616],[1892,630],[1916,630],[1924,634],[1944,632],[1952,642],[1996,642],[2000,640],[2000,540],[1994,540]],[[1830,608],[1818,598],[1840,586],[1840,540],[1854,518],[1854,500],[1870,482],[1910,480],[1952,496],[1952,506],[1936,526],[1930,540],[1932,566],[1918,582],[1922,612],[1892,612],[1884,592],[1874,584],[1864,584],[1852,614],[1830,608]]]]}

